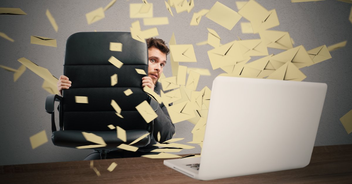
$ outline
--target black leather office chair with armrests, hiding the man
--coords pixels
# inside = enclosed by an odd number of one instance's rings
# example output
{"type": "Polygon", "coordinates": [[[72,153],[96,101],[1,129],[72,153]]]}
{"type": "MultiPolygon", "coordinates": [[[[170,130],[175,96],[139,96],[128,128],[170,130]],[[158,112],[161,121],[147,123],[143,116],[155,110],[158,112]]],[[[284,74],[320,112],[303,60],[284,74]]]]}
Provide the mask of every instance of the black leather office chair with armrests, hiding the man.
{"type": "Polygon", "coordinates": [[[94,145],[82,132],[94,133],[105,140],[107,146],[90,148],[100,152],[106,159],[109,151],[117,150],[120,144],[130,144],[146,133],[150,133],[132,146],[143,147],[153,139],[153,122],[146,123],[135,108],[147,100],[156,111],[158,103],[151,100],[142,89],[142,77],[136,72],[148,73],[148,50],[146,43],[132,39],[128,32],[80,32],[67,39],[64,57],[64,75],[72,81],[69,89],[59,95],[46,97],[45,110],[51,114],[52,142],[56,146],[76,148],[94,145]],[[110,51],[110,42],[122,43],[122,52],[110,51]],[[108,59],[114,56],[124,65],[119,69],[108,59]],[[118,75],[118,83],[111,86],[111,76],[118,75]],[[126,96],[124,91],[133,94],[126,96]],[[87,96],[88,103],[76,103],[75,96],[87,96]],[[111,106],[115,100],[121,107],[123,119],[111,106]],[[59,130],[56,130],[54,102],[59,101],[59,130]],[[117,138],[116,129],[126,130],[127,141],[117,138]]]}

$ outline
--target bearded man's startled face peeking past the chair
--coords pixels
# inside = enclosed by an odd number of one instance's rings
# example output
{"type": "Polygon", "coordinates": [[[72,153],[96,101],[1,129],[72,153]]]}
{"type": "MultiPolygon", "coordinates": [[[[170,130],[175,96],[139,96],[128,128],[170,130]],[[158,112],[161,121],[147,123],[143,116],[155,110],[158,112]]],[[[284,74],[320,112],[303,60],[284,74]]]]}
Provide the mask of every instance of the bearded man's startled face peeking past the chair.
{"type": "Polygon", "coordinates": [[[154,85],[158,82],[166,64],[166,55],[155,47],[148,49],[148,76],[152,78],[154,85]]]}

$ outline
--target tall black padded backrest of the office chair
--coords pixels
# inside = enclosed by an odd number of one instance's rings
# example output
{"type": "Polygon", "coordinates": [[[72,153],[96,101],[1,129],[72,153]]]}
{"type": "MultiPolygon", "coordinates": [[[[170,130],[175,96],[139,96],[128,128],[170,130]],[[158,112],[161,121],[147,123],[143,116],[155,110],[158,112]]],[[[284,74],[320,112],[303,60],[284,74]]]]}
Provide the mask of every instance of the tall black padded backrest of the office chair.
{"type": "Polygon", "coordinates": [[[129,32],[80,32],[67,39],[64,75],[72,81],[63,90],[64,130],[116,131],[108,125],[125,130],[146,129],[147,123],[136,106],[148,99],[142,89],[142,77],[135,69],[148,74],[146,43],[134,40],[129,32]],[[110,42],[122,43],[122,52],[110,51],[110,42]],[[124,63],[121,68],[108,59],[114,56],[124,63]],[[118,83],[111,86],[111,76],[117,74],[118,83]],[[126,96],[124,91],[133,94],[126,96]],[[88,103],[76,103],[75,96],[87,96],[88,103]],[[115,100],[121,107],[120,118],[111,106],[115,100]]]}

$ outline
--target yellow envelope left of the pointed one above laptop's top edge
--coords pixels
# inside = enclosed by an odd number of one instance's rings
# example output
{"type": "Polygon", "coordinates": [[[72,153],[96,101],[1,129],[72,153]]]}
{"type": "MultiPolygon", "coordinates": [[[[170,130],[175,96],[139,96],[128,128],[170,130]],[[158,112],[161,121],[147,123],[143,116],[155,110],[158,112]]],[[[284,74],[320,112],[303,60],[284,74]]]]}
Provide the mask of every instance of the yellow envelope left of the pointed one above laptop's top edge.
{"type": "Polygon", "coordinates": [[[273,56],[273,54],[257,59],[256,61],[246,63],[240,75],[244,77],[260,78],[269,76],[275,71],[274,66],[269,63],[271,56],[273,56]]]}

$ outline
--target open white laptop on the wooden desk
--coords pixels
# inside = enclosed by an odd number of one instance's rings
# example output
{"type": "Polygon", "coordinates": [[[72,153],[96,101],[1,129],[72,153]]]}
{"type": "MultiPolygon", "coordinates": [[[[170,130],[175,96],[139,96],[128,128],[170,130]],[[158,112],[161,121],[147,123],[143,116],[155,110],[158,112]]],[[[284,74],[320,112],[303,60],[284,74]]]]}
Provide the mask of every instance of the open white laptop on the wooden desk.
{"type": "Polygon", "coordinates": [[[218,76],[201,157],[164,165],[200,180],[307,166],[326,89],[324,83],[218,76]]]}

